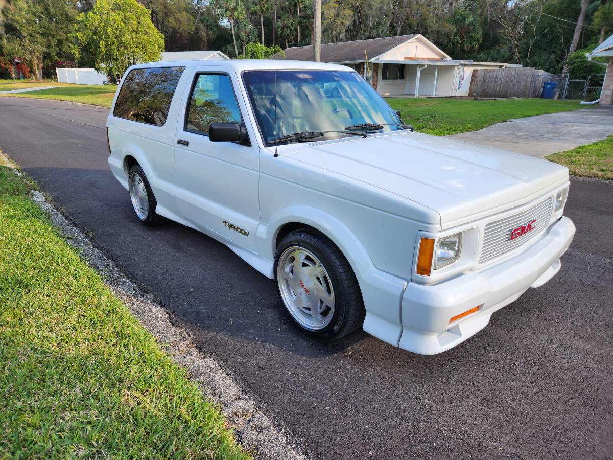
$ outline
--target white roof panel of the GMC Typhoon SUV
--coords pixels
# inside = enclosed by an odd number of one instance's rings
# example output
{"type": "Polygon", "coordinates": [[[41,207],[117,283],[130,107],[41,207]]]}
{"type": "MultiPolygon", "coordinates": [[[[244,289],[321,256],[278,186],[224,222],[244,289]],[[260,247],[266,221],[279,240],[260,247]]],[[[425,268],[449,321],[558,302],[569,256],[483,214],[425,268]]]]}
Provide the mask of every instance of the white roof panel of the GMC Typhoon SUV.
{"type": "MultiPolygon", "coordinates": [[[[134,67],[161,67],[161,63],[137,64],[134,67]]],[[[237,72],[249,70],[329,70],[329,71],[351,71],[347,66],[329,63],[314,63],[311,61],[286,61],[284,59],[229,59],[227,61],[215,61],[213,59],[198,59],[188,61],[164,61],[164,67],[187,67],[187,66],[210,66],[210,67],[232,67],[237,72]]]]}

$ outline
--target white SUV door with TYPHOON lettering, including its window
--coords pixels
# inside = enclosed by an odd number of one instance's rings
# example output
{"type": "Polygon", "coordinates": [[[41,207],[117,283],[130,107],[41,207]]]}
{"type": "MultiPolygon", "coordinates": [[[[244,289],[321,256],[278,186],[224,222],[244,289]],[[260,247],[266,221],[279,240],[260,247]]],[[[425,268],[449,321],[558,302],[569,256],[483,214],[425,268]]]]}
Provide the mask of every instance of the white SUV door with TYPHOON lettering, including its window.
{"type": "Polygon", "coordinates": [[[240,93],[237,98],[236,84],[230,69],[194,71],[182,103],[185,118],[177,126],[177,205],[197,228],[256,250],[259,148],[253,133],[251,146],[208,138],[211,123],[243,123],[245,101],[240,93]]]}

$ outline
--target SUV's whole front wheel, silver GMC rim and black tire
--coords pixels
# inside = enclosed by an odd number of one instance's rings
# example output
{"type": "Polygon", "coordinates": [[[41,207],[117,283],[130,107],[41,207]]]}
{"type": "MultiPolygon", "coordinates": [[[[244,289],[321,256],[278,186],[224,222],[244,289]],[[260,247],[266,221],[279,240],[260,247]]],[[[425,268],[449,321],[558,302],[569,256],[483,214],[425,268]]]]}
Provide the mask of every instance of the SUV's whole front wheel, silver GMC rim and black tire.
{"type": "Polygon", "coordinates": [[[311,335],[338,339],[364,321],[364,302],[345,256],[316,231],[291,232],[275,255],[275,282],[294,321],[311,335]]]}

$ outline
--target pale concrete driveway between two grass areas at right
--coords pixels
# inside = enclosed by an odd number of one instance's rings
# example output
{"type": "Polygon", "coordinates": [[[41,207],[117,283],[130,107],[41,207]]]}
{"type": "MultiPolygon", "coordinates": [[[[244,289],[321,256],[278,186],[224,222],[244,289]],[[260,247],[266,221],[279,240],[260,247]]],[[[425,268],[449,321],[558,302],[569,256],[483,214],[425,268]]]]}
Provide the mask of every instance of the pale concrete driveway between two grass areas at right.
{"type": "Polygon", "coordinates": [[[613,109],[598,107],[514,118],[479,131],[448,137],[543,158],[592,144],[612,134],[613,109]]]}

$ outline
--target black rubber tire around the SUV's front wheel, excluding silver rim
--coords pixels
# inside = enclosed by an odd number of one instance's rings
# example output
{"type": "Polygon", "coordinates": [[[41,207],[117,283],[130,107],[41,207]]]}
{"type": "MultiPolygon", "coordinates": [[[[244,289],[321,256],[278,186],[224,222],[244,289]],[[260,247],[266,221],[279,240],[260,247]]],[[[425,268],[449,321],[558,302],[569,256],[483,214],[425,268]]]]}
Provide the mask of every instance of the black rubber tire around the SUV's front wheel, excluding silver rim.
{"type": "Polygon", "coordinates": [[[281,240],[275,253],[275,284],[277,294],[281,299],[281,303],[286,307],[288,314],[300,329],[307,332],[307,334],[327,340],[340,339],[340,337],[360,328],[364,323],[366,310],[364,309],[364,301],[362,300],[362,293],[360,292],[356,275],[337,245],[318,231],[300,229],[287,234],[281,240]],[[283,255],[287,248],[291,247],[302,247],[311,251],[321,261],[332,282],[335,306],[332,320],[323,329],[314,331],[300,324],[292,316],[289,307],[283,300],[277,267],[280,263],[281,255],[283,255]]]}

